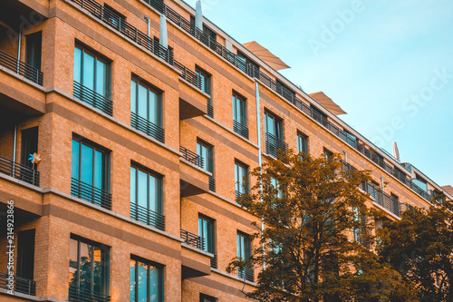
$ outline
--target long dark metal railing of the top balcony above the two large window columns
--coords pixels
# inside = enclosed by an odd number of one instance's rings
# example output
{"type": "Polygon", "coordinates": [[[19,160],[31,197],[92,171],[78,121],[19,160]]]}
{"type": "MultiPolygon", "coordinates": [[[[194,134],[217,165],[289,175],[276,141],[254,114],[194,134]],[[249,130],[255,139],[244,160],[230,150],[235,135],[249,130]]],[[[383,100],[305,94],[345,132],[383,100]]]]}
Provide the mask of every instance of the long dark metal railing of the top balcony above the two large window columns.
{"type": "Polygon", "coordinates": [[[76,5],[82,7],[82,9],[87,10],[91,15],[93,15],[101,22],[108,24],[114,30],[118,31],[120,34],[128,37],[131,41],[139,44],[142,48],[148,50],[149,52],[156,54],[169,63],[170,65],[175,66],[183,74],[182,78],[187,80],[189,83],[201,89],[201,79],[200,77],[189,70],[186,66],[181,63],[178,63],[173,58],[173,53],[168,49],[159,44],[159,42],[151,39],[148,34],[141,32],[137,27],[131,25],[123,17],[115,13],[109,7],[103,6],[100,3],[94,0],[68,0],[76,5]]]}

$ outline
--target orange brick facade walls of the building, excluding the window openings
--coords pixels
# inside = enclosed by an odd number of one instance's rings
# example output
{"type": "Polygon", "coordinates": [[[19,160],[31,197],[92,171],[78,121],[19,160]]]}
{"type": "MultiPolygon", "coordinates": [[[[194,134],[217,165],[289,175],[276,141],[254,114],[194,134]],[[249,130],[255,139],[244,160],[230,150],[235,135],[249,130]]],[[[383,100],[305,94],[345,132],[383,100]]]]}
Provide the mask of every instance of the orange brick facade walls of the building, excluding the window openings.
{"type": "MultiPolygon", "coordinates": [[[[400,212],[410,206],[429,206],[428,192],[442,191],[419,170],[402,167],[377,149],[214,24],[205,20],[216,34],[214,47],[185,29],[182,20],[190,20],[195,11],[179,0],[165,0],[165,6],[158,0],[5,0],[0,9],[8,12],[0,15],[0,209],[6,213],[8,200],[14,200],[15,247],[24,244],[18,242],[22,231],[34,229],[35,234],[33,277],[24,278],[33,280],[35,289],[18,288],[12,295],[2,288],[6,277],[0,275],[1,301],[85,301],[68,294],[74,238],[107,247],[107,286],[105,297],[99,301],[132,301],[131,258],[159,265],[162,301],[200,301],[201,294],[216,301],[247,301],[242,291],[253,288],[259,268],[254,278],[246,280],[238,278],[237,273],[226,273],[226,266],[237,256],[238,232],[255,232],[251,223],[259,219],[235,202],[235,162],[252,170],[260,159],[271,157],[265,147],[265,112],[272,112],[283,122],[282,141],[289,149],[297,151],[297,134],[304,133],[314,156],[323,154],[324,148],[344,153],[344,160],[352,166],[371,170],[377,183],[385,182],[383,190],[388,196],[398,197],[397,203],[386,206],[370,200],[370,205],[384,209],[388,219],[399,219],[400,212]],[[121,15],[119,24],[109,19],[108,12],[113,11],[121,15]],[[168,17],[172,58],[156,52],[158,46],[153,42],[154,37],[159,38],[162,13],[168,17]],[[121,25],[123,21],[128,25],[121,25]],[[18,55],[21,62],[29,61],[27,37],[38,32],[42,33],[42,82],[37,80],[35,73],[39,71],[34,68],[16,68],[20,65],[18,55]],[[226,41],[233,44],[232,49],[226,49],[226,41]],[[99,55],[110,66],[111,114],[77,96],[73,82],[77,45],[99,55]],[[248,67],[240,67],[237,51],[259,65],[259,76],[250,73],[248,67]],[[210,95],[203,91],[197,77],[190,77],[197,69],[210,74],[210,95]],[[132,80],[159,91],[164,141],[134,127],[132,80]],[[275,80],[294,96],[288,99],[275,87],[275,80]],[[248,138],[235,132],[233,94],[246,100],[248,138]],[[209,98],[213,116],[207,114],[209,98]],[[328,126],[304,111],[310,105],[326,115],[328,126]],[[26,168],[19,165],[25,165],[21,159],[27,150],[23,133],[33,127],[38,127],[36,151],[42,161],[26,168]],[[352,133],[356,144],[342,140],[336,129],[352,133]],[[73,191],[74,138],[89,141],[108,154],[104,189],[111,194],[111,204],[107,207],[80,198],[73,191]],[[212,172],[185,158],[180,149],[197,153],[198,141],[212,146],[212,172]],[[359,150],[358,145],[366,146],[366,151],[359,150]],[[373,161],[372,156],[364,155],[367,151],[379,154],[381,160],[373,161]],[[131,167],[159,175],[163,228],[138,221],[131,214],[131,167]],[[409,180],[416,174],[427,180],[426,194],[414,190],[411,182],[399,180],[395,167],[409,180]],[[34,168],[39,172],[39,183],[34,168]],[[213,223],[212,253],[181,239],[181,230],[199,235],[200,217],[213,223]],[[213,264],[216,260],[217,265],[213,264]]],[[[194,27],[192,30],[198,33],[194,27]]],[[[168,52],[164,50],[165,55],[168,52]]],[[[6,274],[6,216],[0,219],[0,273],[6,274]]],[[[15,262],[24,257],[21,253],[15,250],[15,262]]]]}

